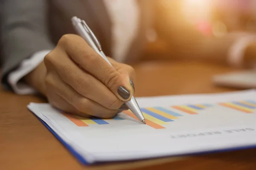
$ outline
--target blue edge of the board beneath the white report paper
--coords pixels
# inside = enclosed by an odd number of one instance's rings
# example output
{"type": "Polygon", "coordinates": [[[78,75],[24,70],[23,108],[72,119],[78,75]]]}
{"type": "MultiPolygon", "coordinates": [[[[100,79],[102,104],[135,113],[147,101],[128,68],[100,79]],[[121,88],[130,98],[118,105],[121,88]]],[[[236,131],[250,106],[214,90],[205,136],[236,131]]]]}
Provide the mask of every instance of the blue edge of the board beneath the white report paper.
{"type": "MultiPolygon", "coordinates": [[[[33,113],[33,112],[32,112],[33,113]]],[[[86,159],[84,159],[84,157],[82,157],[79,153],[76,152],[76,150],[74,150],[69,144],[67,144],[63,139],[61,139],[60,136],[58,136],[57,133],[55,133],[55,131],[52,130],[51,127],[49,127],[49,125],[47,125],[46,122],[44,122],[41,118],[39,118],[36,114],[33,113],[33,115],[35,115],[40,122],[42,122],[42,124],[64,145],[64,147],[67,148],[67,150],[70,151],[70,153],[75,156],[75,158],[83,165],[90,165],[93,163],[89,163],[86,161],[86,159]]],[[[142,161],[142,160],[150,160],[150,159],[160,159],[160,158],[166,158],[166,157],[173,157],[173,156],[200,156],[200,155],[205,155],[205,154],[213,154],[213,153],[221,153],[221,152],[230,152],[230,151],[238,151],[238,150],[245,150],[245,149],[253,149],[256,148],[256,145],[248,145],[248,146],[243,146],[243,147],[230,147],[230,148],[225,148],[225,149],[219,149],[219,150],[209,150],[209,151],[202,151],[202,152],[197,152],[197,153],[188,153],[188,154],[177,154],[177,155],[172,155],[172,156],[161,156],[161,157],[156,157],[156,158],[141,158],[141,159],[130,159],[130,160],[123,160],[122,162],[128,162],[128,161],[142,161]]],[[[115,162],[120,162],[120,161],[112,161],[111,163],[115,163],[115,162]]],[[[105,162],[105,161],[99,161],[99,162],[95,162],[95,164],[102,164],[102,163],[106,163],[108,164],[109,162],[105,162]]]]}

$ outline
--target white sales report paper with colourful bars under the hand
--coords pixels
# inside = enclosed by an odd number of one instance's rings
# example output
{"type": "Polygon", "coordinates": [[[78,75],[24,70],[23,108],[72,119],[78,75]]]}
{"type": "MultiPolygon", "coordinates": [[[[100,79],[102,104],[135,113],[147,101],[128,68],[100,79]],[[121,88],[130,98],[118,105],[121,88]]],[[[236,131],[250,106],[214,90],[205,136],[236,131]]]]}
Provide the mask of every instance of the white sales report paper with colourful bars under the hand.
{"type": "Polygon", "coordinates": [[[28,108],[83,164],[256,147],[256,91],[138,97],[131,111],[84,118],[48,103],[28,108]]]}

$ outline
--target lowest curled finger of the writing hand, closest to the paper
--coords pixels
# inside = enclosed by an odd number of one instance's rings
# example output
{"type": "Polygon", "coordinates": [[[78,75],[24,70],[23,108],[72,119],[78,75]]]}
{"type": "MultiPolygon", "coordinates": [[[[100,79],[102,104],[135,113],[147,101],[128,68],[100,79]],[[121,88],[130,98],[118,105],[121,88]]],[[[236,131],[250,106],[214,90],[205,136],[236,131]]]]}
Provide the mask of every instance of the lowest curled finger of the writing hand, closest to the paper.
{"type": "Polygon", "coordinates": [[[81,96],[73,88],[62,82],[57,75],[48,74],[46,77],[47,96],[50,96],[51,102],[58,108],[81,116],[96,116],[101,118],[113,117],[116,110],[110,110],[98,103],[81,96]],[[58,97],[59,96],[59,97],[58,97]],[[61,99],[61,98],[62,99],[61,99]],[[66,101],[68,103],[63,102],[66,101]],[[71,106],[70,106],[71,105],[71,106]]]}

